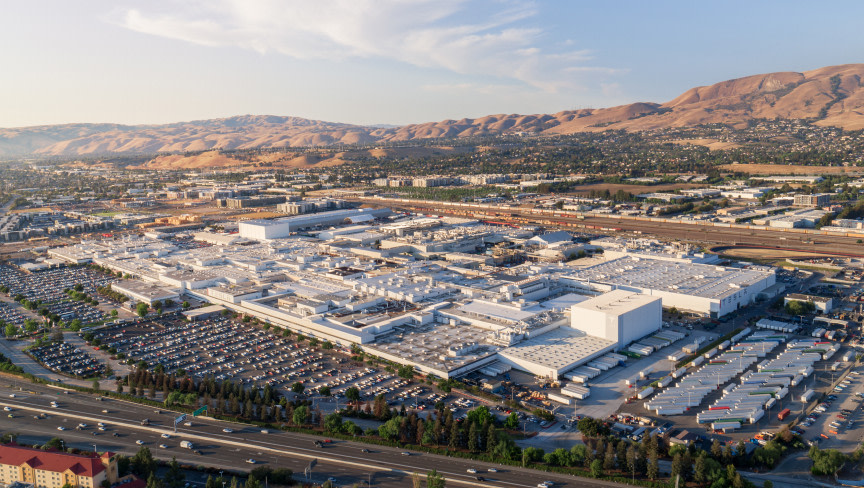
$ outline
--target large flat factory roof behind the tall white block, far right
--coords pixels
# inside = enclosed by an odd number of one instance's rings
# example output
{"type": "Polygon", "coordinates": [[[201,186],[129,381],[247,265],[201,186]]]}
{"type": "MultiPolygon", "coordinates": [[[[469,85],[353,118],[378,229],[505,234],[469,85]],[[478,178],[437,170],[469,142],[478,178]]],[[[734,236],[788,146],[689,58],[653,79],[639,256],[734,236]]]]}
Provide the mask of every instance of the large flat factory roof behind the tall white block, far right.
{"type": "Polygon", "coordinates": [[[623,257],[573,271],[574,277],[692,295],[724,298],[774,274],[769,268],[727,268],[709,264],[623,257]]]}

